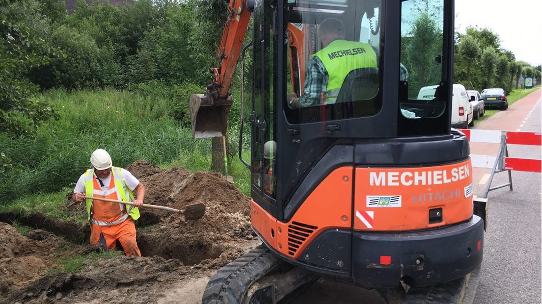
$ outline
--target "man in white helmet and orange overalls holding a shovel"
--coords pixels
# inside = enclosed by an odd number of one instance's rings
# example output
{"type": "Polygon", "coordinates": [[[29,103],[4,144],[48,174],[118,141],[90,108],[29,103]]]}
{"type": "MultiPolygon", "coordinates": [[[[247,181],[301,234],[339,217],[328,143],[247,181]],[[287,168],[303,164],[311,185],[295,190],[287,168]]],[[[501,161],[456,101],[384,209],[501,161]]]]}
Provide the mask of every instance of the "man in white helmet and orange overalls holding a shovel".
{"type": "Polygon", "coordinates": [[[143,205],[145,186],[130,171],[113,167],[111,156],[104,149],[91,154],[91,164],[93,168],[79,177],[72,195],[74,202],[86,200],[91,244],[115,249],[119,241],[127,256],[141,256],[135,241],[134,221],[139,218],[138,207],[143,205]],[[85,195],[132,202],[134,206],[85,199],[85,195]]]}

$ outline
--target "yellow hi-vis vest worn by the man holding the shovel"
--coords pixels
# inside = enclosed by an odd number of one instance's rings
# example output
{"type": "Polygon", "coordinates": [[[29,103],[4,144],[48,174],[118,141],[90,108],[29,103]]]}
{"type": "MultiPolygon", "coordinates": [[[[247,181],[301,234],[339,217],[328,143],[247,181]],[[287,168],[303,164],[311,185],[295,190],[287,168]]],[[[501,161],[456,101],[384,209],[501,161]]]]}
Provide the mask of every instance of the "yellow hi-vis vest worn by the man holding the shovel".
{"type": "MultiPolygon", "coordinates": [[[[111,179],[115,183],[114,190],[117,192],[118,200],[125,201],[125,202],[132,202],[134,200],[134,195],[132,193],[132,190],[126,186],[124,181],[122,180],[122,175],[119,167],[111,167],[111,179]],[[126,193],[128,195],[126,195],[126,193]]],[[[94,189],[94,169],[88,169],[85,172],[85,180],[83,182],[85,184],[85,195],[86,196],[105,196],[105,193],[102,193],[101,190],[95,190],[94,189]]],[[[86,200],[87,205],[87,215],[88,220],[91,220],[91,213],[92,213],[92,200],[87,199],[86,200]]],[[[139,208],[134,207],[132,205],[124,204],[124,212],[125,214],[120,217],[119,220],[116,220],[114,222],[95,222],[95,224],[98,224],[100,226],[110,226],[114,224],[121,223],[125,221],[128,216],[131,216],[132,219],[135,221],[139,219],[139,208]]]]}

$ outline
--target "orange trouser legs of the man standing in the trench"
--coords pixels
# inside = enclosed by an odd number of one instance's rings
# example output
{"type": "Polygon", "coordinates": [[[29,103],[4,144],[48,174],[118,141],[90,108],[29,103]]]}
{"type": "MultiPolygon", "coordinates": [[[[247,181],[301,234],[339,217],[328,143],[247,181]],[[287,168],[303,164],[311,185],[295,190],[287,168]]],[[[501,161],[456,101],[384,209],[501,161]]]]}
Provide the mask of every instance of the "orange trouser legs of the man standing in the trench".
{"type": "Polygon", "coordinates": [[[91,223],[91,244],[98,244],[101,236],[104,236],[108,249],[114,250],[118,240],[126,256],[141,256],[135,241],[135,224],[130,217],[122,223],[111,226],[91,223]]]}

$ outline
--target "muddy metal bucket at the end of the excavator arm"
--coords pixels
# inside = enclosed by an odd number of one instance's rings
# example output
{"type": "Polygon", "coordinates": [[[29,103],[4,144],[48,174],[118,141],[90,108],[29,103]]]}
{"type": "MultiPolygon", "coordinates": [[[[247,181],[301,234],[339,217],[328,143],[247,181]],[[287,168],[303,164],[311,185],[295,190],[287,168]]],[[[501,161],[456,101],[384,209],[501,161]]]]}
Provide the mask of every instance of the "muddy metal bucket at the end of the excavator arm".
{"type": "Polygon", "coordinates": [[[231,103],[231,95],[227,98],[213,98],[206,92],[190,96],[192,135],[196,138],[225,136],[231,103]]]}

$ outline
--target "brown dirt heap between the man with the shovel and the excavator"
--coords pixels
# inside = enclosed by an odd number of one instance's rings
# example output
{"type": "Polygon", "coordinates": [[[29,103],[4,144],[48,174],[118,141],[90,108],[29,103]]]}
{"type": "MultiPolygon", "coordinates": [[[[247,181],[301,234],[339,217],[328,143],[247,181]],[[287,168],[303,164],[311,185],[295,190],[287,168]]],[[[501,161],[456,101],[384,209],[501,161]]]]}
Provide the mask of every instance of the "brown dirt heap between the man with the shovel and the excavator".
{"type": "Polygon", "coordinates": [[[182,214],[141,208],[138,231],[141,254],[178,259],[184,265],[220,266],[240,255],[240,241],[251,239],[250,200],[218,173],[183,168],[159,170],[145,161],[127,168],[145,185],[145,202],[176,209],[202,202],[205,215],[196,221],[182,214]],[[141,175],[138,176],[138,174],[141,175]],[[150,221],[149,221],[150,219],[150,221]]]}

